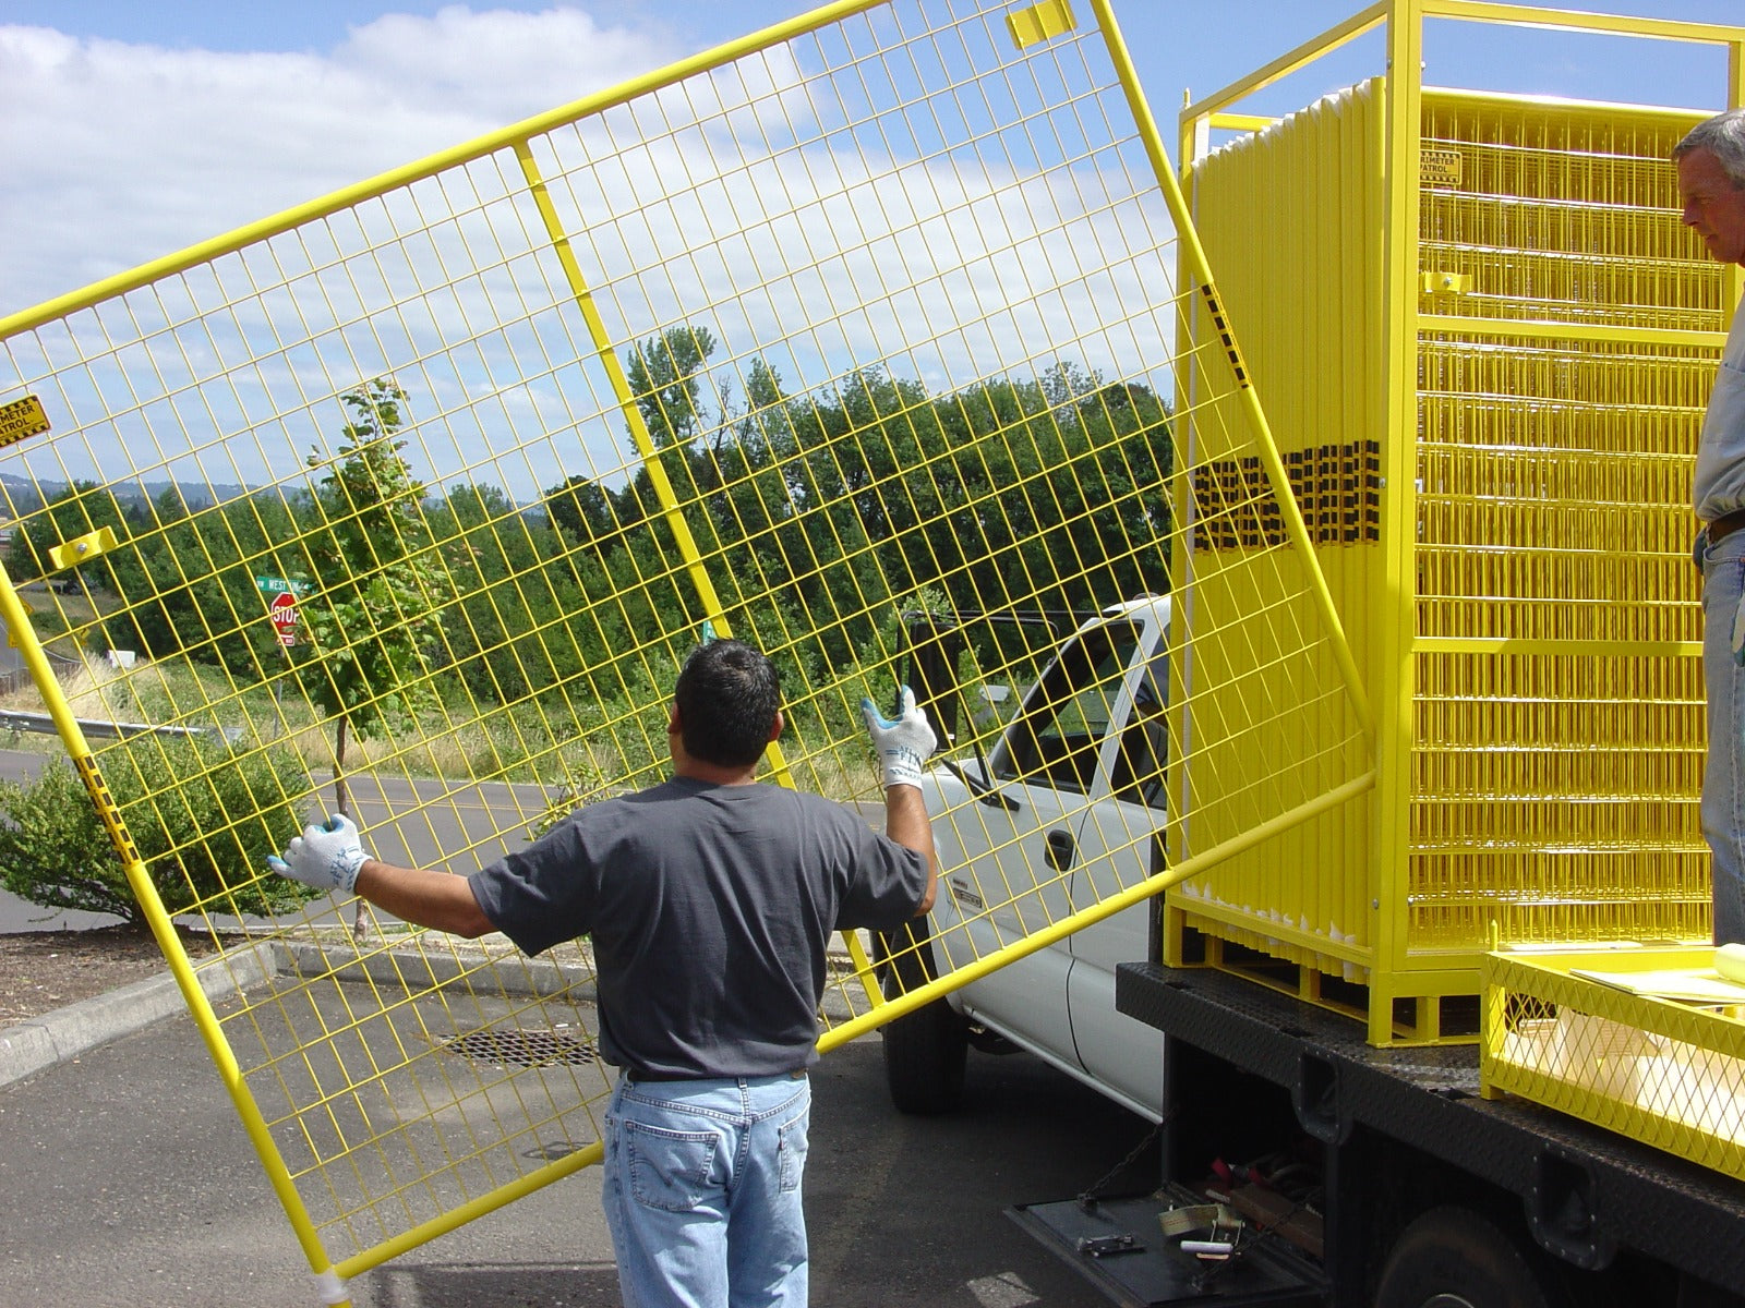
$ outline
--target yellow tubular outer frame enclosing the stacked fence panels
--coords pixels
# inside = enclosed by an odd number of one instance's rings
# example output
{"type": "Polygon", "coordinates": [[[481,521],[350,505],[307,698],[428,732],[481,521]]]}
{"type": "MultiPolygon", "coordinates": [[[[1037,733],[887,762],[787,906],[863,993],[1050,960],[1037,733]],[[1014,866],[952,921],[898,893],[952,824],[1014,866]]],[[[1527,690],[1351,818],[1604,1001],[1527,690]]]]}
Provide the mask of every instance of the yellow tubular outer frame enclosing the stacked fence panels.
{"type": "MultiPolygon", "coordinates": [[[[1478,319],[1420,310],[1420,293],[1426,288],[1422,286],[1419,255],[1419,150],[1426,94],[1422,68],[1427,19],[1719,45],[1728,51],[1726,103],[1729,106],[1745,103],[1745,28],[1473,0],[1382,0],[1256,68],[1248,77],[1187,103],[1180,115],[1181,173],[1185,185],[1192,188],[1199,162],[1213,150],[1215,131],[1260,133],[1274,122],[1272,117],[1244,113],[1241,110],[1244,101],[1359,37],[1382,33],[1386,65],[1391,72],[1373,84],[1384,105],[1380,115],[1384,136],[1375,141],[1373,148],[1375,155],[1386,160],[1386,178],[1380,211],[1370,218],[1368,228],[1384,232],[1386,239],[1380,249],[1352,253],[1379,260],[1382,270],[1384,371],[1387,378],[1380,412],[1384,429],[1391,434],[1415,431],[1419,412],[1417,352],[1420,335],[1426,331],[1483,333],[1487,338],[1520,342],[1523,347],[1551,340],[1642,342],[1665,349],[1694,347],[1719,352],[1722,335],[1715,331],[1478,319]]],[[[1745,286],[1742,281],[1745,270],[1729,267],[1724,276],[1729,296],[1736,302],[1742,286],[1745,286]]],[[[1279,291],[1281,300],[1284,295],[1288,293],[1279,291]]],[[[1436,998],[1473,994],[1478,980],[1478,952],[1471,957],[1448,959],[1436,957],[1434,952],[1413,954],[1410,949],[1403,869],[1412,842],[1410,759],[1417,708],[1413,661],[1422,654],[1546,656],[1570,651],[1569,642],[1415,635],[1413,539],[1419,518],[1415,476],[1413,441],[1398,436],[1384,441],[1384,508],[1380,514],[1384,574],[1373,589],[1373,610],[1345,614],[1347,623],[1356,623],[1366,633],[1368,647],[1375,652],[1370,666],[1379,670],[1365,687],[1375,705],[1375,757],[1379,766],[1372,825],[1365,835],[1375,869],[1370,882],[1373,895],[1370,905],[1373,910],[1372,945],[1344,949],[1316,933],[1295,930],[1290,923],[1256,921],[1248,910],[1197,900],[1181,902],[1194,919],[1218,924],[1213,930],[1228,933],[1230,940],[1272,949],[1272,945],[1262,944],[1260,937],[1263,937],[1283,945],[1290,957],[1323,959],[1319,964],[1305,963],[1305,971],[1298,978],[1298,989],[1305,992],[1305,998],[1317,998],[1314,992],[1319,989],[1319,982],[1310,975],[1316,968],[1337,973],[1338,959],[1359,964],[1368,985],[1368,1038],[1377,1045],[1445,1039],[1436,998]],[[1417,1001],[1417,1017],[1401,1025],[1396,1001],[1417,1001]]],[[[1700,656],[1700,644],[1694,640],[1579,642],[1579,652],[1614,657],[1694,659],[1700,656]]],[[[1279,909],[1283,905],[1267,907],[1279,909]]],[[[1171,921],[1178,930],[1183,923],[1180,912],[1181,909],[1171,910],[1171,921]]],[[[1222,956],[1218,940],[1209,942],[1208,947],[1215,956],[1222,956]]],[[[1180,952],[1174,961],[1181,961],[1180,952]]]]}

